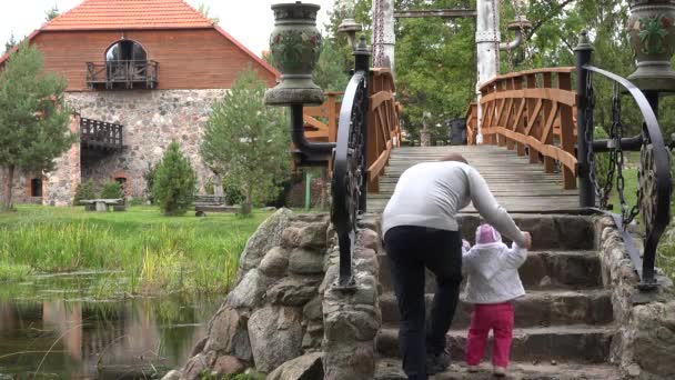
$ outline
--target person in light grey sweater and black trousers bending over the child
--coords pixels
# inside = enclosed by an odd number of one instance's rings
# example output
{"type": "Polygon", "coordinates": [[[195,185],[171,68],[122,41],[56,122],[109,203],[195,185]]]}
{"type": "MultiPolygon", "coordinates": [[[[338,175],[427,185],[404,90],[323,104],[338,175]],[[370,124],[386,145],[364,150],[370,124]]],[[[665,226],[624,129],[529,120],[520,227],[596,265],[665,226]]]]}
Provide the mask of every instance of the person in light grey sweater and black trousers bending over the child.
{"type": "Polygon", "coordinates": [[[425,380],[450,366],[445,334],[462,282],[462,236],[455,217],[470,201],[503,236],[531,248],[530,233],[515,226],[483,177],[457,153],[405,170],[382,214],[384,244],[401,312],[403,370],[411,380],[425,380]],[[437,283],[426,328],[425,267],[434,272],[437,283]]]}

